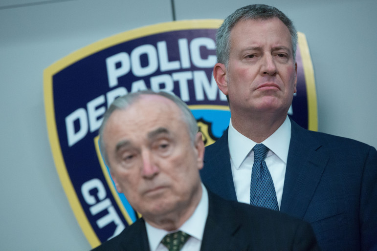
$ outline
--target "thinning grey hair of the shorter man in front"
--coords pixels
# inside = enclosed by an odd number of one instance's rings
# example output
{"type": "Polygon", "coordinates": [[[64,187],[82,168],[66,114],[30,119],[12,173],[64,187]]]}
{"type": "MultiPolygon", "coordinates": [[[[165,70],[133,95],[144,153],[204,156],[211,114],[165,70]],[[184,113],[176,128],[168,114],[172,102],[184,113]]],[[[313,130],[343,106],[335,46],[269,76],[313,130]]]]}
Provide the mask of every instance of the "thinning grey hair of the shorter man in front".
{"type": "Polygon", "coordinates": [[[100,146],[101,154],[102,154],[102,156],[105,160],[105,164],[108,167],[110,167],[110,165],[109,165],[110,163],[109,163],[109,157],[107,155],[106,147],[105,147],[104,140],[103,140],[104,128],[105,128],[111,114],[115,110],[125,110],[125,109],[127,109],[128,107],[133,105],[137,100],[139,100],[140,96],[142,96],[142,95],[158,95],[158,96],[162,96],[162,97],[165,97],[165,98],[173,101],[178,106],[179,110],[182,112],[182,119],[187,124],[187,127],[188,127],[187,129],[189,130],[188,132],[189,132],[189,135],[190,135],[191,143],[193,145],[195,143],[196,134],[199,131],[198,124],[197,124],[196,119],[194,118],[194,115],[191,113],[190,108],[180,98],[178,98],[174,94],[170,94],[170,93],[164,92],[164,91],[154,92],[152,90],[142,90],[142,91],[138,91],[138,92],[129,93],[129,94],[126,94],[124,96],[118,97],[117,99],[115,99],[111,103],[110,107],[107,109],[107,111],[105,112],[105,114],[103,116],[102,125],[99,129],[99,146],[100,146]]]}

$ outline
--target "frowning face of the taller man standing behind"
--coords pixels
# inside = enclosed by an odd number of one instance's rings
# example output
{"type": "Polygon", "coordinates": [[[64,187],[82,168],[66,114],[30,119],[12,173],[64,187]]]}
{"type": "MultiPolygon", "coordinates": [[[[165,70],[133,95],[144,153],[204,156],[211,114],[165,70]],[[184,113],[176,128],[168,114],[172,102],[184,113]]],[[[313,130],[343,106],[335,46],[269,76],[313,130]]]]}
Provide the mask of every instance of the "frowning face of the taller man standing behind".
{"type": "Polygon", "coordinates": [[[232,112],[288,112],[297,64],[287,26],[277,18],[239,21],[231,31],[225,72],[219,87],[232,112]]]}

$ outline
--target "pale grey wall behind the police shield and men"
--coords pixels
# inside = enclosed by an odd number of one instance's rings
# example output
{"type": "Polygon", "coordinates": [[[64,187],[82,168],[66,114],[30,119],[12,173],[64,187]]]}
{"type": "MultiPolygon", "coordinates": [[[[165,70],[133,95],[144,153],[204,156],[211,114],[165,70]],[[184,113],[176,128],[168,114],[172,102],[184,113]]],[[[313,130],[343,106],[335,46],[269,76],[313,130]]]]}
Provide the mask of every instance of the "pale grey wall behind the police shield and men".
{"type": "MultiPolygon", "coordinates": [[[[223,19],[246,0],[175,0],[177,20],[223,19]]],[[[376,0],[265,0],[309,43],[319,131],[377,147],[376,0]]],[[[92,42],[172,21],[170,0],[0,0],[0,249],[89,250],[47,138],[43,70],[92,42]]]]}

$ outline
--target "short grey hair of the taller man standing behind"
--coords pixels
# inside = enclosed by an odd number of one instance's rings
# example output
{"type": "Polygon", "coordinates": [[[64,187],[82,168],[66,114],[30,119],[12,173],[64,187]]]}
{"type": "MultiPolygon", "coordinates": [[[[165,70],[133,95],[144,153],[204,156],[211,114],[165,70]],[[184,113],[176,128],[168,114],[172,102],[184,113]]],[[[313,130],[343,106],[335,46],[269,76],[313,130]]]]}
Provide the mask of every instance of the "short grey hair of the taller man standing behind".
{"type": "Polygon", "coordinates": [[[296,58],[297,31],[292,21],[275,7],[265,4],[252,4],[237,9],[229,15],[216,34],[216,56],[217,62],[228,66],[230,53],[230,32],[238,21],[244,20],[268,20],[272,18],[280,19],[288,28],[290,33],[290,42],[292,45],[293,59],[296,58]]]}

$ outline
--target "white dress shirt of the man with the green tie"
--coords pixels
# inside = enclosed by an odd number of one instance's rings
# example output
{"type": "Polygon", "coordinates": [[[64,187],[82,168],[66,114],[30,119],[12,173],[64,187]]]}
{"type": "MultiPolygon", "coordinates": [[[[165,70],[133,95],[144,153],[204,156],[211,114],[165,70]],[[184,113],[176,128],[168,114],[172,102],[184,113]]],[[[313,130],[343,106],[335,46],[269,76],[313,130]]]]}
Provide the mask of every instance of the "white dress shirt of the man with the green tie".
{"type": "MultiPolygon", "coordinates": [[[[190,238],[183,245],[181,251],[199,251],[201,247],[204,226],[208,216],[208,192],[203,184],[201,184],[201,188],[202,193],[198,207],[191,217],[178,229],[190,235],[190,238]]],[[[161,243],[162,239],[166,234],[178,231],[174,230],[169,232],[163,229],[157,229],[147,222],[145,222],[145,227],[147,229],[149,248],[151,251],[167,251],[168,249],[161,243]]]]}

